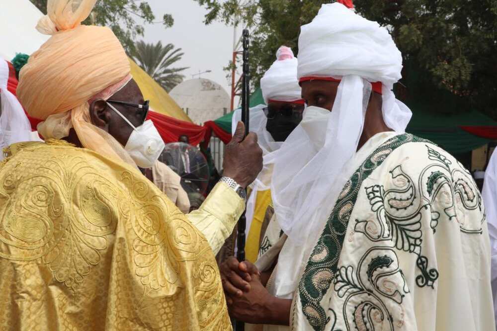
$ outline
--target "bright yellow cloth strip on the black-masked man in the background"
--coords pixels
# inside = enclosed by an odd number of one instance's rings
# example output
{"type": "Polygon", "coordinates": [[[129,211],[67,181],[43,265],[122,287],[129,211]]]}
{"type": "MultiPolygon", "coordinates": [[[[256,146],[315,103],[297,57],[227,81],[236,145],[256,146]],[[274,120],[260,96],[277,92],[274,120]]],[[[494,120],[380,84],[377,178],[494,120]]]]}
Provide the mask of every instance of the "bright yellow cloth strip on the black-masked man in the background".
{"type": "Polygon", "coordinates": [[[245,254],[247,259],[254,263],[259,253],[260,230],[264,217],[266,216],[267,207],[271,204],[271,190],[252,192],[257,193],[255,198],[255,207],[253,219],[248,230],[247,244],[245,245],[245,254]]]}

